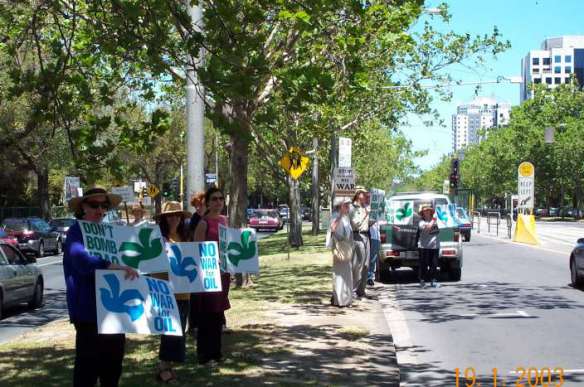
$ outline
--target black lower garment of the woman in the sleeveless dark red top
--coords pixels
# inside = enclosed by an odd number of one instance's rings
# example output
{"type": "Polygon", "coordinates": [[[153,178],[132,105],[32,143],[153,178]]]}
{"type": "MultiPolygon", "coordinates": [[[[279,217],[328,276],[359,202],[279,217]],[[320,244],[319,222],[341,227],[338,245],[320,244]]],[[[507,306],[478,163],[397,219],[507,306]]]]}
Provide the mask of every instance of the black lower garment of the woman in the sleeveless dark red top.
{"type": "Polygon", "coordinates": [[[221,360],[221,333],[223,312],[202,312],[199,314],[197,330],[197,357],[199,363],[221,360]]]}

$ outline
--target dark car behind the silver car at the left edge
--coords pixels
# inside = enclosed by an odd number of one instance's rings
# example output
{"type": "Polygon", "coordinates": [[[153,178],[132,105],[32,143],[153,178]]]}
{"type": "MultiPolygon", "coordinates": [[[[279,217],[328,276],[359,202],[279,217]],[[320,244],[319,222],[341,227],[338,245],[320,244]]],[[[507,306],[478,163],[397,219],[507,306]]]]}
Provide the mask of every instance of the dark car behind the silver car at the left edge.
{"type": "Polygon", "coordinates": [[[23,253],[37,257],[45,256],[47,251],[61,253],[63,241],[61,234],[41,218],[7,218],[2,222],[8,235],[18,240],[18,248],[23,253]]]}

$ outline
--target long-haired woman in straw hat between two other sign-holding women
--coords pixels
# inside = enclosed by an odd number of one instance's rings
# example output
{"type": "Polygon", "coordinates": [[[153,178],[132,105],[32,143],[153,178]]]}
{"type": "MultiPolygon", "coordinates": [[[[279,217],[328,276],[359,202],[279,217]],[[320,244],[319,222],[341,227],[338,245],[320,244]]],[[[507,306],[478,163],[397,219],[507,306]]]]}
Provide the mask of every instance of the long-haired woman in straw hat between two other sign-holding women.
{"type": "MultiPolygon", "coordinates": [[[[162,212],[156,217],[160,225],[160,233],[166,243],[186,242],[188,240],[188,230],[185,225],[185,218],[191,214],[183,211],[179,202],[166,202],[162,206],[162,212]]],[[[155,278],[168,280],[168,273],[157,273],[152,275],[155,278]]],[[[190,293],[175,294],[176,304],[180,315],[182,326],[182,336],[160,336],[160,351],[158,353],[158,369],[156,376],[158,380],[169,383],[176,380],[176,373],[173,370],[173,363],[184,363],[186,356],[185,328],[187,317],[190,311],[190,293]]]]}

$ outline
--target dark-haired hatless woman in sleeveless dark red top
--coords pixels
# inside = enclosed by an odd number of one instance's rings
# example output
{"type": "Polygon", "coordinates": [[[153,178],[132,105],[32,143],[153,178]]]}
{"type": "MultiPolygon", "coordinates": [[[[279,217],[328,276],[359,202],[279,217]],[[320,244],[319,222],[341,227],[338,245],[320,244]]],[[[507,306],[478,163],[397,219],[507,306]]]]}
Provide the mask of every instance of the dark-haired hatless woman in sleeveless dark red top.
{"type": "MultiPolygon", "coordinates": [[[[212,187],[205,193],[207,213],[195,229],[195,241],[216,241],[219,244],[219,225],[227,225],[227,218],[221,213],[225,197],[220,189],[212,187]]],[[[198,297],[197,357],[199,364],[221,361],[221,334],[225,321],[225,311],[229,304],[229,273],[221,272],[221,292],[202,293],[198,297]]]]}

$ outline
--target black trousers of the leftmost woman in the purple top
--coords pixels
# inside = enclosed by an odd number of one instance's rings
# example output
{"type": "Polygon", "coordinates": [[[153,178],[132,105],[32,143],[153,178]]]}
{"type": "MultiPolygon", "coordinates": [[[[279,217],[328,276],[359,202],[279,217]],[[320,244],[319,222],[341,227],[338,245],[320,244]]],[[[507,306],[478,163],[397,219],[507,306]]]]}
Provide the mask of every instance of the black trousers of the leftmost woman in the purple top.
{"type": "Polygon", "coordinates": [[[126,336],[100,335],[97,324],[75,324],[74,387],[116,387],[122,375],[126,336]]]}

